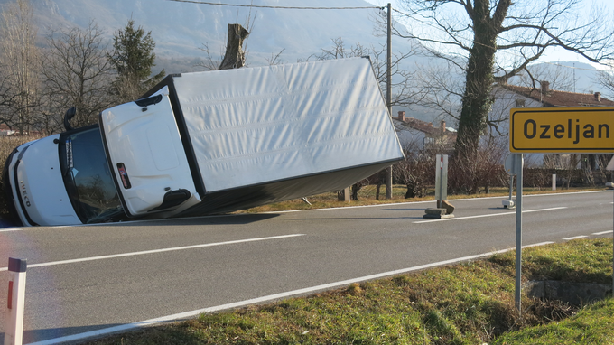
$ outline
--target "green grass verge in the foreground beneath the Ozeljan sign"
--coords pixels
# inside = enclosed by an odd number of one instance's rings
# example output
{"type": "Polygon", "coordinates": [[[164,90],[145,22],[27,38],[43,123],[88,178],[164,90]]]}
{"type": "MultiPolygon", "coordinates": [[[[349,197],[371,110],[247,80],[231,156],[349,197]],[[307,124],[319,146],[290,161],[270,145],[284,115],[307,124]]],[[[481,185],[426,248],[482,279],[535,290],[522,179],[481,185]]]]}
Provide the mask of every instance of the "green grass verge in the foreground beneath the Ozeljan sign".
{"type": "MultiPolygon", "coordinates": [[[[612,344],[614,301],[572,307],[523,296],[514,252],[236,311],[96,344],[612,344]]],[[[523,251],[526,279],[611,284],[612,239],[523,251]]]]}

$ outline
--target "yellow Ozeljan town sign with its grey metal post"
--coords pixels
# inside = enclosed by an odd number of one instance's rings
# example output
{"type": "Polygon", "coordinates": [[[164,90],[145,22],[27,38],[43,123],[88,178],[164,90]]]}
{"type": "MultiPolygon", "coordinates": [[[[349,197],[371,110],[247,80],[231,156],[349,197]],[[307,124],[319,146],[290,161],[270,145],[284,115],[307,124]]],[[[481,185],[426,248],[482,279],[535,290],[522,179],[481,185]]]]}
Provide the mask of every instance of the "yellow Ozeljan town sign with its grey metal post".
{"type": "MultiPolygon", "coordinates": [[[[509,151],[512,153],[614,153],[614,140],[612,139],[614,139],[614,107],[520,107],[509,111],[509,151]]],[[[519,268],[521,264],[519,254],[522,246],[522,157],[520,162],[516,180],[516,306],[518,310],[520,310],[519,268]]],[[[606,169],[614,169],[614,166],[606,169]]],[[[553,190],[554,183],[553,179],[553,190]]],[[[612,225],[614,228],[614,223],[612,225]]],[[[612,241],[614,244],[614,236],[612,241]]],[[[614,252],[612,254],[612,266],[614,267],[614,252]]],[[[614,274],[612,275],[612,289],[614,289],[614,274]]]]}

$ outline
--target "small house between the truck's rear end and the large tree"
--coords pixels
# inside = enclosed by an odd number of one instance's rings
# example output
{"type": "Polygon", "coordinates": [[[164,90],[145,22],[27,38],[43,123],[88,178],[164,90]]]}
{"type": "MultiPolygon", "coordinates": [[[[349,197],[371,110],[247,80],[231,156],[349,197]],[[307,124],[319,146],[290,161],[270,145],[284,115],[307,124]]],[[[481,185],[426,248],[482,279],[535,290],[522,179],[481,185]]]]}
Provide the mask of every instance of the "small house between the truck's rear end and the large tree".
{"type": "Polygon", "coordinates": [[[456,131],[446,127],[445,121],[439,127],[414,117],[405,117],[405,111],[399,111],[392,117],[396,135],[404,150],[433,150],[437,154],[451,154],[456,142],[456,131]]]}

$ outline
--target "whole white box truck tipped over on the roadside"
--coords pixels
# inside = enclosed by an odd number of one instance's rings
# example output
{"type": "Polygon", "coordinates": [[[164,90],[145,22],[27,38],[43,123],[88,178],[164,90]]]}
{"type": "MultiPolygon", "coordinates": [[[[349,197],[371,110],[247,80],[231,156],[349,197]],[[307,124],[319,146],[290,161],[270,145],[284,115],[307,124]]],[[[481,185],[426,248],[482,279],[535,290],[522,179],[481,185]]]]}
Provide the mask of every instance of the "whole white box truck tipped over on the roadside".
{"type": "Polygon", "coordinates": [[[343,189],[403,159],[367,58],[169,75],[99,124],[17,147],[25,226],[191,217],[343,189]]]}

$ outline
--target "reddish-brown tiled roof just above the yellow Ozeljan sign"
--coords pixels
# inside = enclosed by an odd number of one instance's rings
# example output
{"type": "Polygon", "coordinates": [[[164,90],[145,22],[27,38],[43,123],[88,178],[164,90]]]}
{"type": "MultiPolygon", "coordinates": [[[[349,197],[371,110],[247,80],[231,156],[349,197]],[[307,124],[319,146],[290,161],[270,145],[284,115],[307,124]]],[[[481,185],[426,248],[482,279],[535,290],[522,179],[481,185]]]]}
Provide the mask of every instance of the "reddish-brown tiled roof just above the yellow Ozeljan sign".
{"type": "Polygon", "coordinates": [[[499,84],[503,89],[516,92],[526,98],[542,102],[544,107],[614,107],[614,101],[602,98],[599,92],[575,93],[548,89],[526,88],[516,85],[499,84]],[[544,90],[545,89],[545,90],[544,90]]]}

